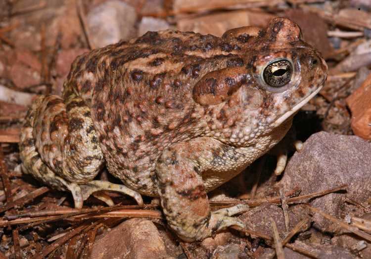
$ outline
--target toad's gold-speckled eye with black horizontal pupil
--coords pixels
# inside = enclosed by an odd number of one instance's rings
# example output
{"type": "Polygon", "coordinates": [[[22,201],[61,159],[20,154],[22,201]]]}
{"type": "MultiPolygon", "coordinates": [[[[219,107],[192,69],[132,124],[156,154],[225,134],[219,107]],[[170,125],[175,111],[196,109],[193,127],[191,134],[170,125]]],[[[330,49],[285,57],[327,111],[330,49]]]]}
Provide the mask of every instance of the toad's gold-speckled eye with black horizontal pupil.
{"type": "Polygon", "coordinates": [[[290,82],[292,64],[286,59],[270,63],[263,72],[264,82],[272,87],[281,87],[290,82]]]}

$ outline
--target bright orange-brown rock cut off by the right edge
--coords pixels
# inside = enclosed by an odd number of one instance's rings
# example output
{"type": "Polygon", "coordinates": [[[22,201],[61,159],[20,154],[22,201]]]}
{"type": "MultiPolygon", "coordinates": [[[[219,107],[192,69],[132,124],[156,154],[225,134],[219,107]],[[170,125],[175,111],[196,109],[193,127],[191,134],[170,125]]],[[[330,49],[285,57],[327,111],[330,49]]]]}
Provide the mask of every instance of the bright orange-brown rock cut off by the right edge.
{"type": "Polygon", "coordinates": [[[353,132],[371,140],[371,75],[361,87],[357,88],[347,99],[352,111],[351,127],[353,132]]]}

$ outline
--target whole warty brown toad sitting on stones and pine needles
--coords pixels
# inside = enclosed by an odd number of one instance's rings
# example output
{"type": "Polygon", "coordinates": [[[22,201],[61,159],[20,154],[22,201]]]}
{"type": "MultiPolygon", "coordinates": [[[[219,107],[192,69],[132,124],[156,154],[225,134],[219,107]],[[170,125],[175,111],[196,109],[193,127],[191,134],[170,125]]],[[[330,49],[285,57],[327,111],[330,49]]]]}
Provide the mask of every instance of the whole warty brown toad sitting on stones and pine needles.
{"type": "MultiPolygon", "coordinates": [[[[231,225],[238,205],[210,212],[206,193],[272,148],[322,87],[327,66],[283,18],[223,37],[148,32],[79,56],[63,97],[38,98],[21,133],[25,172],[72,192],[159,196],[186,241],[231,225]],[[103,165],[124,185],[94,180],[103,165]]],[[[96,197],[111,204],[105,195],[96,197]]]]}

